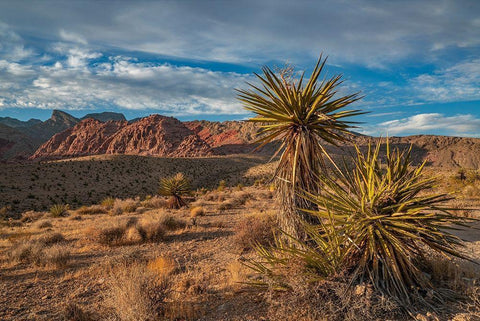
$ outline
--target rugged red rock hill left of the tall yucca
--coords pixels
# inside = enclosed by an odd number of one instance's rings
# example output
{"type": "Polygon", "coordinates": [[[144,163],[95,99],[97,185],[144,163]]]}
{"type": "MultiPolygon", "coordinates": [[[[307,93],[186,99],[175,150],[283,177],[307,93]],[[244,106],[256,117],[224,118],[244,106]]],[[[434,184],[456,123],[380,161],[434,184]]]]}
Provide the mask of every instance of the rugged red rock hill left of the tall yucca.
{"type": "Polygon", "coordinates": [[[173,117],[152,115],[135,123],[86,119],[53,136],[31,159],[96,154],[197,157],[212,154],[210,146],[173,117]]]}

